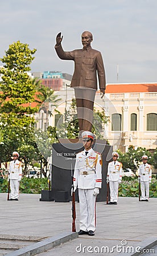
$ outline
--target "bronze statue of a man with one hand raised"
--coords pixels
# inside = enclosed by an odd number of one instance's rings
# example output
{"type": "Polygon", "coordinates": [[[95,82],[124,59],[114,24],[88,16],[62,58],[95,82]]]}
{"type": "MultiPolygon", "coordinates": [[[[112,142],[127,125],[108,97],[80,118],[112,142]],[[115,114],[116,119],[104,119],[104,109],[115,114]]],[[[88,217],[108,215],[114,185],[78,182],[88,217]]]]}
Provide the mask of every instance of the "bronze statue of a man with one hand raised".
{"type": "Polygon", "coordinates": [[[61,33],[59,33],[56,36],[55,49],[60,59],[75,61],[71,87],[75,89],[79,129],[80,131],[91,131],[94,98],[97,90],[97,75],[100,92],[104,97],[106,86],[105,69],[101,53],[90,46],[93,41],[92,33],[84,31],[81,38],[82,49],[65,52],[61,46],[63,36],[61,37],[61,33]]]}

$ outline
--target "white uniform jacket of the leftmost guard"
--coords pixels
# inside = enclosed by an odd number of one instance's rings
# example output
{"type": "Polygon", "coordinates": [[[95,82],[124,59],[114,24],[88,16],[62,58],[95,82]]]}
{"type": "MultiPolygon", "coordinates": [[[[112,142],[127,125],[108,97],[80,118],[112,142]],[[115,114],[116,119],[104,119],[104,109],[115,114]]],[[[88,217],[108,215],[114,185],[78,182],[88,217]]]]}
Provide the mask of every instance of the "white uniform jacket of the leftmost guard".
{"type": "Polygon", "coordinates": [[[17,159],[10,162],[9,165],[10,180],[21,180],[22,178],[22,163],[17,159]]]}

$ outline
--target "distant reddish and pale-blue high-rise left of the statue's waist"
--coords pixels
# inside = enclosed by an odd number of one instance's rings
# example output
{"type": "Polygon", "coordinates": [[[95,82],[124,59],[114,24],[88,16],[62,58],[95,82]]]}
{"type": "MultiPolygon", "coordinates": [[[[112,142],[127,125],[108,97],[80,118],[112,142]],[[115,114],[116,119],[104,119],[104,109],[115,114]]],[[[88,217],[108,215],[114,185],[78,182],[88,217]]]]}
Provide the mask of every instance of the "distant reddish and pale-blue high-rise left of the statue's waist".
{"type": "Polygon", "coordinates": [[[72,75],[60,71],[44,71],[41,79],[43,85],[56,91],[65,89],[71,80],[72,75]]]}

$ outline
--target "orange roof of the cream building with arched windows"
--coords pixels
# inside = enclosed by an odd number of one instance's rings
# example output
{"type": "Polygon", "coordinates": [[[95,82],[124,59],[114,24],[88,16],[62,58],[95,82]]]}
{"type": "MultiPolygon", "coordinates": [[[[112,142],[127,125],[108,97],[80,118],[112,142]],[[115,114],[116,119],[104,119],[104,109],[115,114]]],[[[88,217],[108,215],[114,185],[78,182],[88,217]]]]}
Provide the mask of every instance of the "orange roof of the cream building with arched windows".
{"type": "Polygon", "coordinates": [[[136,84],[107,84],[105,93],[157,92],[157,82],[136,84]]]}

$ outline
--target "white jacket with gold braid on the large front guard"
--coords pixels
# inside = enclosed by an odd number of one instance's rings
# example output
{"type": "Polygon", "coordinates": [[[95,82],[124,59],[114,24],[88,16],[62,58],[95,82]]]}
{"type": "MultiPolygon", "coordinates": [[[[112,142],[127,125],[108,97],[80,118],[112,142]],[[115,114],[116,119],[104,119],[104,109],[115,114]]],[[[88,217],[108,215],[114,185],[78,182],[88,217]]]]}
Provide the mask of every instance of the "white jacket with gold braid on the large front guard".
{"type": "Polygon", "coordinates": [[[85,155],[85,150],[76,155],[73,185],[81,189],[101,188],[101,154],[92,148],[85,155]]]}

